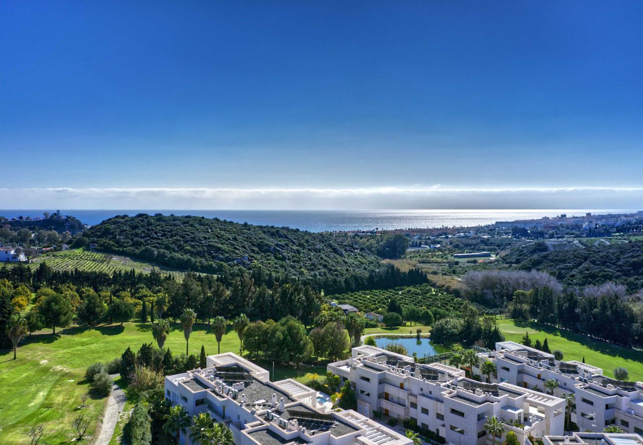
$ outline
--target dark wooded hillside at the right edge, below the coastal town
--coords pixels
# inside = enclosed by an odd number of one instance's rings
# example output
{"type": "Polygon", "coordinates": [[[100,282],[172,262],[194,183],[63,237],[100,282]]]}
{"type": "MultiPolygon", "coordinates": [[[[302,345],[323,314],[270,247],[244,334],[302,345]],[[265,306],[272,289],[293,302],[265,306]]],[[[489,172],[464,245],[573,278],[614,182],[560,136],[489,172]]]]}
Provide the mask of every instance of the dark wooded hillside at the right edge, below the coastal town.
{"type": "Polygon", "coordinates": [[[591,246],[520,255],[517,250],[505,260],[520,269],[547,271],[568,286],[586,286],[616,282],[635,292],[643,288],[643,242],[611,246],[591,246]]]}

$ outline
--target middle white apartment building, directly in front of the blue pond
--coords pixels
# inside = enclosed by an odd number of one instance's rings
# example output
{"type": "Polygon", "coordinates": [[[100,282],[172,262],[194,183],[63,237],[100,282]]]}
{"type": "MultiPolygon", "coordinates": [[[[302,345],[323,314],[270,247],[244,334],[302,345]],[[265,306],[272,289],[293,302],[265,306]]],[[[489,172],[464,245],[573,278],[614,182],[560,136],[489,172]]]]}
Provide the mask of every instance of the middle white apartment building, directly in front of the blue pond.
{"type": "Polygon", "coordinates": [[[563,433],[563,399],[509,383],[480,383],[440,363],[422,365],[364,345],[354,347],[349,359],[330,363],[328,370],[354,384],[359,413],[412,419],[448,444],[491,443],[484,424],[493,416],[505,431],[516,433],[521,444],[529,435],[563,433]]]}

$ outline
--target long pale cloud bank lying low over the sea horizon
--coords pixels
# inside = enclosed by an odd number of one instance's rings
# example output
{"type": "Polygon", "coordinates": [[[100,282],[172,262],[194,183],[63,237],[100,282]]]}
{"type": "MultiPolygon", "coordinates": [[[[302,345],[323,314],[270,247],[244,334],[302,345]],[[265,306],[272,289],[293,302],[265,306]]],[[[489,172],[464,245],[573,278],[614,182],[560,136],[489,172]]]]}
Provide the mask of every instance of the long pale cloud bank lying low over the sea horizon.
{"type": "Polygon", "coordinates": [[[0,208],[643,208],[643,188],[0,188],[0,208]]]}

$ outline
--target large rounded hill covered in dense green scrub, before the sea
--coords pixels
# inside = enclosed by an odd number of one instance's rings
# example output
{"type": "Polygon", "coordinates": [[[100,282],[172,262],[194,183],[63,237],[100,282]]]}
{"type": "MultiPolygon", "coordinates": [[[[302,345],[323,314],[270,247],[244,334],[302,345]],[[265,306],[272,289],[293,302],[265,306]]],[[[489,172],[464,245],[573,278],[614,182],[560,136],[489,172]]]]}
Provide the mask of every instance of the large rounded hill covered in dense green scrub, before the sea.
{"type": "Polygon", "coordinates": [[[100,250],[222,275],[244,268],[253,275],[343,280],[379,267],[376,255],[331,234],[196,216],[120,215],[84,236],[100,250]]]}

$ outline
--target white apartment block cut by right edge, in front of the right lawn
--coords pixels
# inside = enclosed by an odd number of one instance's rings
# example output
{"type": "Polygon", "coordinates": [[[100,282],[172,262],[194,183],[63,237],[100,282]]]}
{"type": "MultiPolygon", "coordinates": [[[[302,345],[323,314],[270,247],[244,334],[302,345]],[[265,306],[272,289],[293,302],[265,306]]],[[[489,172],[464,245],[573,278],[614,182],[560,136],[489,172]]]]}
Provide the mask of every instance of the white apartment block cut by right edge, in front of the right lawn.
{"type": "MultiPolygon", "coordinates": [[[[559,361],[552,354],[514,341],[496,343],[496,350],[480,354],[482,361],[496,365],[497,378],[525,388],[545,392],[547,380],[558,381],[554,395],[574,394],[572,413],[581,431],[600,432],[617,424],[628,433],[643,434],[643,383],[617,381],[602,375],[602,369],[579,361],[559,361]]],[[[480,373],[479,368],[474,372],[480,373]]]]}

